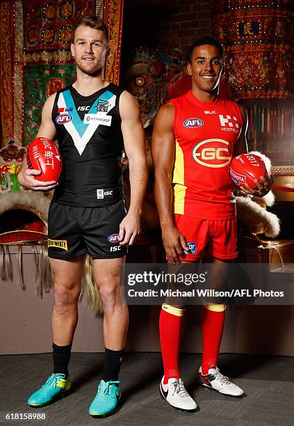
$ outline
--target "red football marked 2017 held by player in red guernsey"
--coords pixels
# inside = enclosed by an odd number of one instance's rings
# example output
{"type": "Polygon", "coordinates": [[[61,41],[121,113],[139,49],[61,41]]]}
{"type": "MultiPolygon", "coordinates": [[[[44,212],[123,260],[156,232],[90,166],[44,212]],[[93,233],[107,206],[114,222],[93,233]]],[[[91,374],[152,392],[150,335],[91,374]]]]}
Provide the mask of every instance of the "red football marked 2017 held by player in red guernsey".
{"type": "Polygon", "coordinates": [[[268,179],[266,164],[259,155],[240,154],[231,161],[230,174],[233,182],[238,187],[245,187],[248,184],[250,188],[257,189],[254,179],[260,180],[260,177],[268,179]]]}

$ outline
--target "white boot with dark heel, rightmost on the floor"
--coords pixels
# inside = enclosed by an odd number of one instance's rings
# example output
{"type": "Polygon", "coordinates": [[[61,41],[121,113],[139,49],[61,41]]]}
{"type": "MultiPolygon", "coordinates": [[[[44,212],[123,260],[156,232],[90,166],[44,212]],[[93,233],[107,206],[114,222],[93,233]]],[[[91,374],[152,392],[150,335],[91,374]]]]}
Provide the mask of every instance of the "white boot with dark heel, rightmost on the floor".
{"type": "Polygon", "coordinates": [[[211,365],[211,368],[209,368],[209,374],[205,375],[202,374],[202,368],[200,366],[198,370],[198,378],[201,381],[202,386],[218,390],[218,392],[223,393],[224,395],[238,397],[244,393],[243,389],[229,381],[229,377],[223,376],[216,365],[211,365]]]}

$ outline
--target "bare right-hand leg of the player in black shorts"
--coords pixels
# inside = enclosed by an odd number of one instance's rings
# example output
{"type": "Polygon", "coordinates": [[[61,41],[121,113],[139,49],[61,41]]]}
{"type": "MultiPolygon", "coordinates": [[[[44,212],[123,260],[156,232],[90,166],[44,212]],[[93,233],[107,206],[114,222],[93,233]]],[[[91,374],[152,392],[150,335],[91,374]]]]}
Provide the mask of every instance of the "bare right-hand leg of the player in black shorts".
{"type": "Polygon", "coordinates": [[[95,259],[94,276],[104,308],[104,345],[113,351],[124,349],[129,310],[121,297],[120,267],[125,258],[95,259]]]}

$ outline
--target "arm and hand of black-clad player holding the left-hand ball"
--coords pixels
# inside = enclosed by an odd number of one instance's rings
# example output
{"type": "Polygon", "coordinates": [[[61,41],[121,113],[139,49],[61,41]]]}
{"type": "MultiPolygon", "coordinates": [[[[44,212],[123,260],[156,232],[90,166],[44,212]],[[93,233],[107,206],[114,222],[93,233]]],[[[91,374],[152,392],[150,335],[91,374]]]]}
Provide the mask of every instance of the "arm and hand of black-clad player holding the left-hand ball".
{"type": "MultiPolygon", "coordinates": [[[[51,141],[54,141],[56,138],[56,129],[54,123],[51,118],[51,113],[54,105],[56,93],[50,95],[46,102],[44,103],[44,107],[42,109],[42,123],[38,130],[38,134],[36,138],[47,138],[51,141]]],[[[34,191],[51,191],[54,189],[58,183],[54,180],[49,182],[41,182],[40,180],[35,179],[36,175],[40,175],[39,170],[29,169],[26,165],[26,158],[22,162],[22,168],[18,174],[19,184],[26,189],[33,189],[34,191]]]]}

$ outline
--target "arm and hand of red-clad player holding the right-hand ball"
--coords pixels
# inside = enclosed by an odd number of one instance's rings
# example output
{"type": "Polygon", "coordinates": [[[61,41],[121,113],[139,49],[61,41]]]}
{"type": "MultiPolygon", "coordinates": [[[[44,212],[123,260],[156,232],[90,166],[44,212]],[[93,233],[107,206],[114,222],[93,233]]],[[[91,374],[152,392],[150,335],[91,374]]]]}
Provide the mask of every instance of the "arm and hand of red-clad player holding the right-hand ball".
{"type": "MultiPolygon", "coordinates": [[[[247,140],[246,140],[246,133],[247,133],[247,127],[248,127],[247,111],[243,107],[243,105],[238,105],[238,107],[240,109],[240,114],[243,118],[243,125],[242,125],[240,136],[238,137],[238,141],[236,142],[234,146],[234,157],[248,152],[247,140]]],[[[259,180],[255,179],[254,182],[256,183],[258,189],[254,191],[254,189],[251,189],[250,186],[246,184],[246,189],[243,188],[242,191],[245,192],[245,194],[249,194],[254,197],[263,197],[266,194],[268,194],[268,191],[270,191],[270,188],[272,187],[272,183],[273,183],[273,178],[272,178],[272,175],[269,175],[269,180],[266,180],[263,176],[261,176],[259,180]]]]}

